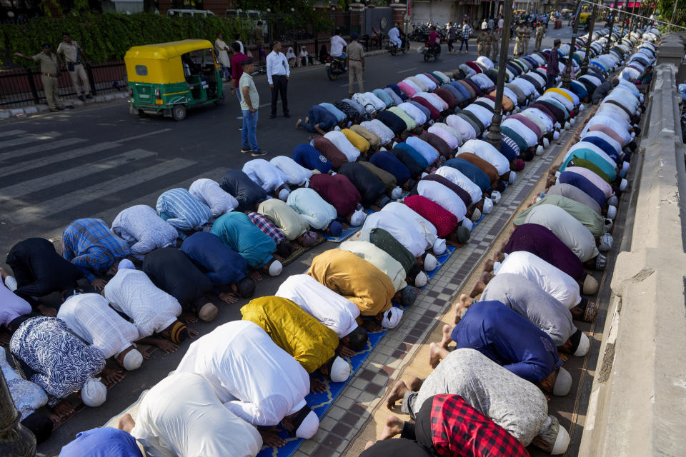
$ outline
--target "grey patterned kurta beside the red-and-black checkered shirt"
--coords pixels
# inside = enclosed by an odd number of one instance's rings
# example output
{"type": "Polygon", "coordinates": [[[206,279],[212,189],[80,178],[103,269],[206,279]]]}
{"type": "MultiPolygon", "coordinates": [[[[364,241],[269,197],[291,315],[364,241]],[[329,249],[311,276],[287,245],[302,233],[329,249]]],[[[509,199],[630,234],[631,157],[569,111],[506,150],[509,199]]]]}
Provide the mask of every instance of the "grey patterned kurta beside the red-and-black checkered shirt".
{"type": "Polygon", "coordinates": [[[479,351],[452,351],[419,389],[414,411],[438,393],[454,393],[529,446],[543,428],[548,404],[540,388],[479,351]]]}

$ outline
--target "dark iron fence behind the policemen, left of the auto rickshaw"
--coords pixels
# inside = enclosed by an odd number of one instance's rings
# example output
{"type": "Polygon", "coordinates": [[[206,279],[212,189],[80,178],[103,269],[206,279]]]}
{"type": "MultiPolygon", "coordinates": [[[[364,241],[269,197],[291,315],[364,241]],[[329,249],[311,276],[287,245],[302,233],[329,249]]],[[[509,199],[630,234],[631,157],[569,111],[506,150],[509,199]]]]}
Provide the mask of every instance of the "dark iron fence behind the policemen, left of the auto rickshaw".
{"type": "MultiPolygon", "coordinates": [[[[124,61],[88,65],[86,74],[93,95],[127,90],[124,61]]],[[[57,86],[58,99],[76,97],[68,72],[60,72],[57,86]]],[[[41,103],[45,103],[45,92],[41,83],[41,71],[38,68],[0,71],[0,109],[41,103]]]]}

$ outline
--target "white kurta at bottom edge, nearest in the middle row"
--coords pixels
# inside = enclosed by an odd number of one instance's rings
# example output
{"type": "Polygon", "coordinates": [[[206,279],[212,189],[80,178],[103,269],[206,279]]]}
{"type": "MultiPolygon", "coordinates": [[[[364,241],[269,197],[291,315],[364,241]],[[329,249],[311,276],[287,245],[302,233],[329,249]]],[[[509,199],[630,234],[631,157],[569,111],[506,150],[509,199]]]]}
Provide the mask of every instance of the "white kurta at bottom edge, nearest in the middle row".
{"type": "Polygon", "coordinates": [[[262,448],[257,428],[224,407],[195,373],[174,373],[156,383],[141,400],[131,435],[156,438],[177,457],[254,457],[262,448]]]}

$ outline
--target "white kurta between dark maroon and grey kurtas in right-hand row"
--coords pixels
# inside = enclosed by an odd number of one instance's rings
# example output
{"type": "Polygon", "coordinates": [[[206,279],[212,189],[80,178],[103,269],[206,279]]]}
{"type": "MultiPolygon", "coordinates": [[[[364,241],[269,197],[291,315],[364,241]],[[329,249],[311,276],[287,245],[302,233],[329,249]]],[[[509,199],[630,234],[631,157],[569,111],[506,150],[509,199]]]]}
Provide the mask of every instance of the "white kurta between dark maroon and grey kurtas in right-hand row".
{"type": "Polygon", "coordinates": [[[567,308],[581,301],[579,284],[572,276],[527,251],[515,251],[500,265],[496,274],[513,273],[538,284],[567,308]]]}

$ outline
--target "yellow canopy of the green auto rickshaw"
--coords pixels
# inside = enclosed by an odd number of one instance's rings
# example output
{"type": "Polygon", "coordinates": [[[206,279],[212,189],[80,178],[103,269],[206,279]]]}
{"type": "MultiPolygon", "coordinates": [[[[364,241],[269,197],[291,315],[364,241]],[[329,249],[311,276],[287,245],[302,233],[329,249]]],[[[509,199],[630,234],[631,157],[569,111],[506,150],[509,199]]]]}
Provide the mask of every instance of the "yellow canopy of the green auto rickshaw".
{"type": "Polygon", "coordinates": [[[201,39],[133,46],[126,51],[124,56],[126,76],[131,82],[153,84],[182,82],[184,81],[182,54],[202,49],[213,52],[212,48],[212,43],[201,39]]]}

